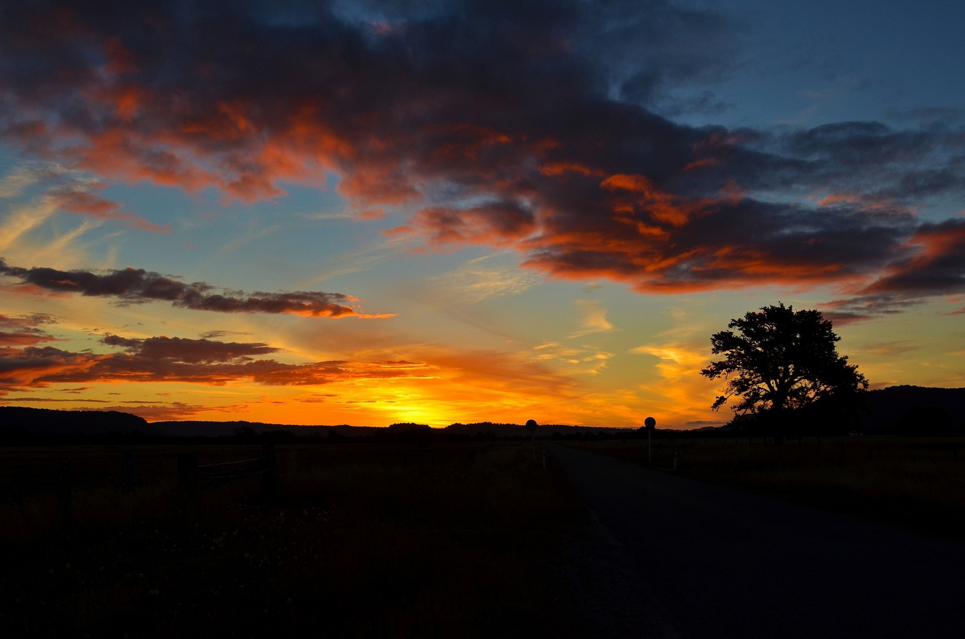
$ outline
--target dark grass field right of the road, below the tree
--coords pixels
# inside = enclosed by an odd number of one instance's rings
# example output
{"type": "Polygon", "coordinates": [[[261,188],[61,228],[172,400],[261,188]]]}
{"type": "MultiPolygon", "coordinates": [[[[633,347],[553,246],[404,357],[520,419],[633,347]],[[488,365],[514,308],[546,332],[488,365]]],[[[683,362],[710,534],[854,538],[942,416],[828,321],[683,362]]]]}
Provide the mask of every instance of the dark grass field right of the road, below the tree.
{"type": "MultiPolygon", "coordinates": [[[[965,438],[654,439],[654,468],[965,540],[965,438]],[[960,450],[959,450],[960,449],[960,450]]],[[[647,440],[567,445],[647,464],[647,440]]]]}

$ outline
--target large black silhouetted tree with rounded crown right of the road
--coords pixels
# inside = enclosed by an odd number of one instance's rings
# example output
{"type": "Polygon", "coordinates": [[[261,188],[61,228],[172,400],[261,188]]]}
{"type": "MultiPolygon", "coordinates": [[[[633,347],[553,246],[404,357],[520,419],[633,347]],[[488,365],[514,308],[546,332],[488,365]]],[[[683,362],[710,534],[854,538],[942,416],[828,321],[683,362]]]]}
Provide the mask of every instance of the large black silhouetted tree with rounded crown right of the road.
{"type": "Polygon", "coordinates": [[[787,409],[818,402],[854,405],[868,389],[865,375],[838,354],[835,344],[841,338],[819,311],[795,311],[779,303],[731,319],[728,328],[737,332],[721,331],[710,338],[711,352],[725,358],[701,371],[710,379],[727,379],[725,394],[713,408],[738,396],[733,411],[766,414],[779,439],[787,409]]]}

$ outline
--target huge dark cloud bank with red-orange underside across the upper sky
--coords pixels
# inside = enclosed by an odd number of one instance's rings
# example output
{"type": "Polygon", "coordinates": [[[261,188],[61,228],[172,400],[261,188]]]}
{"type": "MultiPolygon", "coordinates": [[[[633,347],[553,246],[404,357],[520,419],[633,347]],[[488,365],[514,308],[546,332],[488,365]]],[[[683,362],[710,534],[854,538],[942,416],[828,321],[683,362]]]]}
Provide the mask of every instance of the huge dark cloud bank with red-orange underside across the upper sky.
{"type": "MultiPolygon", "coordinates": [[[[737,42],[722,15],[666,2],[0,11],[0,126],[30,153],[243,201],[334,172],[353,204],[412,211],[397,235],[511,246],[558,277],[905,294],[862,291],[925,255],[915,208],[965,191],[948,119],[770,133],[658,115],[724,108],[700,83],[729,72],[737,42]]],[[[189,308],[348,308],[177,284],[189,308]]]]}

